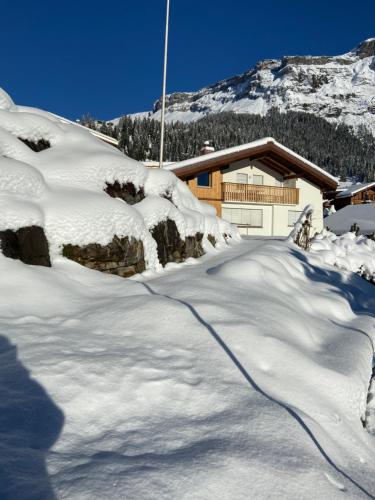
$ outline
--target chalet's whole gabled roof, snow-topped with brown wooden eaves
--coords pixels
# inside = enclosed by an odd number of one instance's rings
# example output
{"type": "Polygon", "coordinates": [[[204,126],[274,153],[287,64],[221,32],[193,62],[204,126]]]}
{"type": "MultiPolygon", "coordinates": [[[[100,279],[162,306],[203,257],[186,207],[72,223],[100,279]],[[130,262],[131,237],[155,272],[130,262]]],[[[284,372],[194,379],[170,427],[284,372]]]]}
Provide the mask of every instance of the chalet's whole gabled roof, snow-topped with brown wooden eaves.
{"type": "Polygon", "coordinates": [[[166,166],[165,169],[173,171],[178,177],[185,178],[210,169],[224,167],[228,163],[245,158],[259,159],[266,166],[283,175],[300,174],[323,189],[336,189],[337,187],[337,179],[333,175],[272,137],[179,161],[166,166]]]}

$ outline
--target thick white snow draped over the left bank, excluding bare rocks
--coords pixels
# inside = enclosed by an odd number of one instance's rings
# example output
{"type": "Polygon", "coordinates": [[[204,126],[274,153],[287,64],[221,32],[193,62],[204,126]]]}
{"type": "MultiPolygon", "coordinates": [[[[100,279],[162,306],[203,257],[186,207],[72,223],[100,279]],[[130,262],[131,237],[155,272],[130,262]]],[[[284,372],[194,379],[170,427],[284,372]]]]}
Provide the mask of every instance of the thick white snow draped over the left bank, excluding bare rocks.
{"type": "Polygon", "coordinates": [[[235,227],[216,218],[212,208],[194,198],[173,173],[147,169],[62,117],[16,106],[4,91],[0,93],[0,205],[3,229],[44,227],[52,263],[64,244],[105,245],[117,235],[141,240],[147,268],[159,269],[149,232],[152,212],[160,220],[170,215],[179,221],[182,237],[203,232],[205,237],[214,234],[219,243],[225,242],[224,233],[238,237],[235,227]],[[50,147],[35,152],[20,139],[48,141],[50,147]],[[107,184],[116,182],[144,188],[143,210],[104,192],[107,184]],[[162,200],[163,196],[171,201],[162,200]]]}

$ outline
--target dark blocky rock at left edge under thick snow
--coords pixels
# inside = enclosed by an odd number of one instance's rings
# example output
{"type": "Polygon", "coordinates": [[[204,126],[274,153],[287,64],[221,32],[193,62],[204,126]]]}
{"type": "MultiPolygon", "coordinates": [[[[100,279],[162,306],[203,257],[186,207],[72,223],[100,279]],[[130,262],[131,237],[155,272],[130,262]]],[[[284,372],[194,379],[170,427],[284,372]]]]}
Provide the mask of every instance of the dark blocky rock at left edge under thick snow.
{"type": "Polygon", "coordinates": [[[39,226],[0,231],[0,247],[5,257],[21,260],[25,264],[51,267],[48,241],[39,226]]]}

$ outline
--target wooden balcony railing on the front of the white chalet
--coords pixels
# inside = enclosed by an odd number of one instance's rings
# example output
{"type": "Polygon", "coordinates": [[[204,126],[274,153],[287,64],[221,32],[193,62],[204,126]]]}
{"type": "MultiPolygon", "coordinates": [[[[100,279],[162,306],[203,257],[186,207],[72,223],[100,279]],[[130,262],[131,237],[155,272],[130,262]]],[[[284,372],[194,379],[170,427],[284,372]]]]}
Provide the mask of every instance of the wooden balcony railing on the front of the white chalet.
{"type": "Polygon", "coordinates": [[[237,201],[242,203],[298,205],[299,189],[223,182],[222,199],[223,201],[237,201]]]}

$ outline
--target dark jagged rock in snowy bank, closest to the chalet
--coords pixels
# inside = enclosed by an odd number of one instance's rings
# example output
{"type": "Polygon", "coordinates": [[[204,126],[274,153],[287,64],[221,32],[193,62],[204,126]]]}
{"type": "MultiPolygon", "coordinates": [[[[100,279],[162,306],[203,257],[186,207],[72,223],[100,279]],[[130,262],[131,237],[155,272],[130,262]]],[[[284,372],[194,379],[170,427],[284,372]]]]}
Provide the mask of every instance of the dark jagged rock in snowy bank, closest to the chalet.
{"type": "Polygon", "coordinates": [[[204,254],[203,234],[197,233],[195,236],[188,236],[183,241],[176,223],[171,219],[159,222],[152,229],[151,235],[156,241],[158,258],[162,266],[168,262],[183,262],[189,257],[198,258],[204,254]]]}

